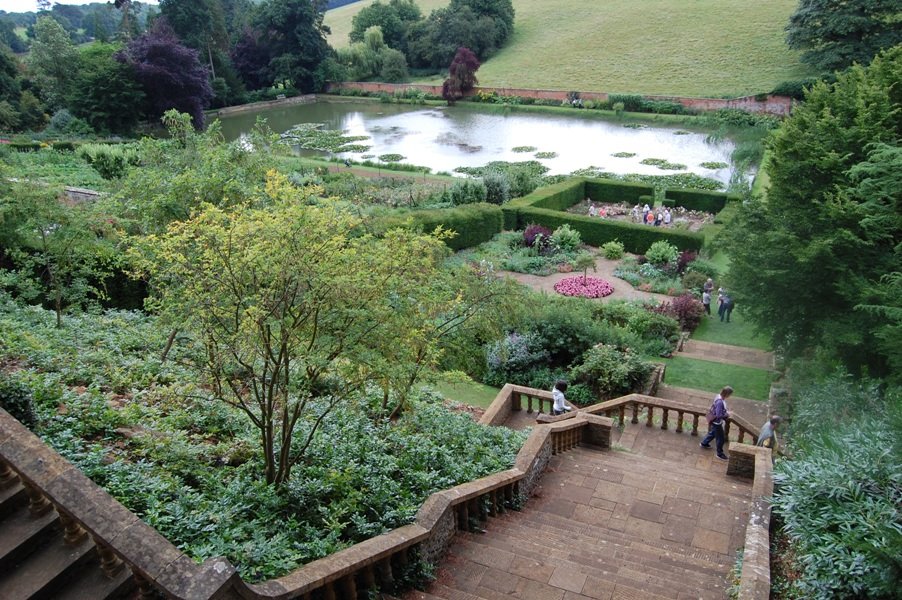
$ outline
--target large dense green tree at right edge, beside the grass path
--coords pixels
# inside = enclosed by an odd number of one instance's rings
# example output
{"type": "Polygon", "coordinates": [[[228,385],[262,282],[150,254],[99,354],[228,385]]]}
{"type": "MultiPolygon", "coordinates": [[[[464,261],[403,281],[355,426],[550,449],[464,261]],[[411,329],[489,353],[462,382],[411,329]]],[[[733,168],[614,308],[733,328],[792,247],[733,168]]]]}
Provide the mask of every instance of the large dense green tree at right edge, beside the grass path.
{"type": "Polygon", "coordinates": [[[766,199],[729,227],[739,305],[790,356],[820,347],[853,369],[889,370],[875,335],[886,334],[879,307],[898,307],[886,278],[902,272],[900,107],[902,47],[816,84],[769,141],[766,199]]]}

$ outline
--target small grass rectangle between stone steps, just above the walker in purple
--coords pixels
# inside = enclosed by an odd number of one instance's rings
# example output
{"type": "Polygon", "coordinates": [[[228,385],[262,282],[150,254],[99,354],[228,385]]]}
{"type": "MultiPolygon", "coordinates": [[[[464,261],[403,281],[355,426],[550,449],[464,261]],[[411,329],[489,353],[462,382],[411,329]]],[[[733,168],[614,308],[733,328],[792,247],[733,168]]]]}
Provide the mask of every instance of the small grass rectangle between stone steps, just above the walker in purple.
{"type": "Polygon", "coordinates": [[[694,390],[719,390],[732,386],[740,398],[767,401],[774,375],[763,369],[675,356],[667,360],[668,385],[694,390]]]}

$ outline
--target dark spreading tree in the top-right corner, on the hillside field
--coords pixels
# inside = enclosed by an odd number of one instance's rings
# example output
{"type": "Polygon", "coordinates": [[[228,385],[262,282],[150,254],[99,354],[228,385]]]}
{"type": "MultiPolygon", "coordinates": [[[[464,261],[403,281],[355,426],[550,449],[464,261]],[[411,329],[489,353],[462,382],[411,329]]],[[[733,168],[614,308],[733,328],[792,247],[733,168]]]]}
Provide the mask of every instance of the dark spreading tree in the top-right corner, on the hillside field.
{"type": "Polygon", "coordinates": [[[896,0],[800,0],[786,26],[786,43],[824,71],[866,65],[902,42],[902,5],[896,0]]]}

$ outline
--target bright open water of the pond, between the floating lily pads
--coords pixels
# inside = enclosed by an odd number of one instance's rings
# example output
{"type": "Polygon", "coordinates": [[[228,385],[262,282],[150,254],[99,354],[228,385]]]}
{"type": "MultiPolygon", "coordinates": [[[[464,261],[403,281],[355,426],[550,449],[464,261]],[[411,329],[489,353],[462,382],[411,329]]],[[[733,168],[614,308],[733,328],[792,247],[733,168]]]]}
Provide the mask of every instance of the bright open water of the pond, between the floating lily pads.
{"type": "MultiPolygon", "coordinates": [[[[400,154],[404,162],[430,167],[433,171],[453,171],[475,167],[493,160],[522,161],[534,153],[517,153],[517,146],[535,146],[536,152],[555,152],[555,158],[540,159],[550,174],[570,173],[590,166],[612,173],[666,175],[646,158],[666,159],[685,165],[689,171],[722,182],[730,179],[730,168],[706,169],[703,162],[730,163],[733,143],[709,143],[701,132],[678,127],[624,127],[587,112],[573,115],[499,113],[474,107],[423,107],[364,102],[317,102],[241,113],[222,118],[227,139],[236,139],[264,117],[274,131],[283,132],[298,123],[325,123],[348,135],[365,135],[360,143],[372,146],[368,154],[400,154]],[[614,153],[635,156],[616,158],[614,153]]],[[[685,125],[682,127],[685,128],[685,125]]],[[[307,154],[321,154],[309,152],[307,154]]],[[[343,154],[359,158],[359,154],[343,154]]]]}

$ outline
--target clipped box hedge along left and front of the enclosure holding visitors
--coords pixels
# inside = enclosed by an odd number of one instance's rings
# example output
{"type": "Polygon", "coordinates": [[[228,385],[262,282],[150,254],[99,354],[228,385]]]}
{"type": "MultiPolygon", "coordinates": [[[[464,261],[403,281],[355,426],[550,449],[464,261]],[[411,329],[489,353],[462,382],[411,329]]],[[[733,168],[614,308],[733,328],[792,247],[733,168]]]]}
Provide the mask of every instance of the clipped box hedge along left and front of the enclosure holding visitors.
{"type": "Polygon", "coordinates": [[[583,242],[590,246],[619,240],[627,252],[645,254],[652,243],[666,240],[680,250],[701,250],[705,239],[700,233],[564,212],[586,196],[598,202],[635,204],[640,196],[653,193],[651,187],[642,184],[576,177],[539,188],[503,205],[504,228],[513,231],[535,223],[556,229],[567,223],[579,231],[583,242]]]}

